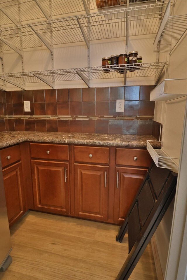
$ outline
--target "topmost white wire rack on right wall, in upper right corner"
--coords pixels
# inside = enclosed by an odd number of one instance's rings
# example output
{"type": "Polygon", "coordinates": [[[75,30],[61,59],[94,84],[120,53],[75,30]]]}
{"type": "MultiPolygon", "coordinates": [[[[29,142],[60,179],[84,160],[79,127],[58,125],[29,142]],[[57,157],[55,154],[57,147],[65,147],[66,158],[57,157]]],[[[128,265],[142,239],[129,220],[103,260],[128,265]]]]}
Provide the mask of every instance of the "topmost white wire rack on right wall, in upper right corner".
{"type": "Polygon", "coordinates": [[[187,14],[171,16],[169,1],[154,41],[154,53],[171,52],[187,30],[187,14]]]}

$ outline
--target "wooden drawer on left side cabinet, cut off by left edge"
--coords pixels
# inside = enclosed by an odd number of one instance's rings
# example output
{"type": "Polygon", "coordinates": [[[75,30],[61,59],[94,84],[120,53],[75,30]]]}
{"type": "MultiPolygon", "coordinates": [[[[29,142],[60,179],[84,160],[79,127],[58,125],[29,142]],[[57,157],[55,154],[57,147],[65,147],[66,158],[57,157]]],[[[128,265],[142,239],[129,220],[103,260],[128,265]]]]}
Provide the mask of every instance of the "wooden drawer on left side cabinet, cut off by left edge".
{"type": "Polygon", "coordinates": [[[0,151],[2,168],[21,160],[20,145],[12,146],[0,151]],[[9,157],[9,159],[8,159],[9,157]]]}

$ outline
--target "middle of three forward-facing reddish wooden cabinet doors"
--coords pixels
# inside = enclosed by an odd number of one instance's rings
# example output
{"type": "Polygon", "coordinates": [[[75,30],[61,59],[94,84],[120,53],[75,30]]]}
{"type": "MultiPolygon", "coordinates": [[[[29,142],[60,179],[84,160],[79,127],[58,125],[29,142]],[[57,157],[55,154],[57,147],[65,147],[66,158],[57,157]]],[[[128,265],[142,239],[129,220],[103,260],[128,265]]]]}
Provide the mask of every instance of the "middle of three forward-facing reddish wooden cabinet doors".
{"type": "Polygon", "coordinates": [[[108,170],[98,165],[75,164],[75,215],[107,221],[108,170]]]}

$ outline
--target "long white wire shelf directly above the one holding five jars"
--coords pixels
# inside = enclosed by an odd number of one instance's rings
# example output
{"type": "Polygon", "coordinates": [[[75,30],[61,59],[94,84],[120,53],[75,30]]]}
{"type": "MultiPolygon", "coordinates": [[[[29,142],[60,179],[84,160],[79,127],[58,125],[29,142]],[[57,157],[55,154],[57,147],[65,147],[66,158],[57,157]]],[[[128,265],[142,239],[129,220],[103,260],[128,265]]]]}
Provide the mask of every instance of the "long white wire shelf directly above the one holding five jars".
{"type": "Polygon", "coordinates": [[[51,33],[53,45],[83,42],[88,27],[90,41],[121,38],[126,32],[126,13],[128,36],[156,34],[164,8],[162,3],[148,4],[1,28],[2,51],[11,49],[7,42],[18,49],[45,46],[44,40],[50,45],[51,33]]]}

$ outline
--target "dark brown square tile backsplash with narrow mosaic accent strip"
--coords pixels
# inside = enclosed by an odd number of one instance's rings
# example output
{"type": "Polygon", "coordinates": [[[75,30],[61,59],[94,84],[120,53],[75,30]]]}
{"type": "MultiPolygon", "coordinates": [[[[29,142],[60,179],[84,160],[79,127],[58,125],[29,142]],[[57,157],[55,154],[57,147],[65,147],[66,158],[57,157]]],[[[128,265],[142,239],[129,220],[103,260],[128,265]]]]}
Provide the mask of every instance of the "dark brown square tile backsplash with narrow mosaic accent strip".
{"type": "Polygon", "coordinates": [[[0,131],[152,134],[154,85],[0,91],[0,131]],[[116,112],[124,99],[124,112],[116,112]],[[30,101],[24,112],[23,101],[30,101]]]}

